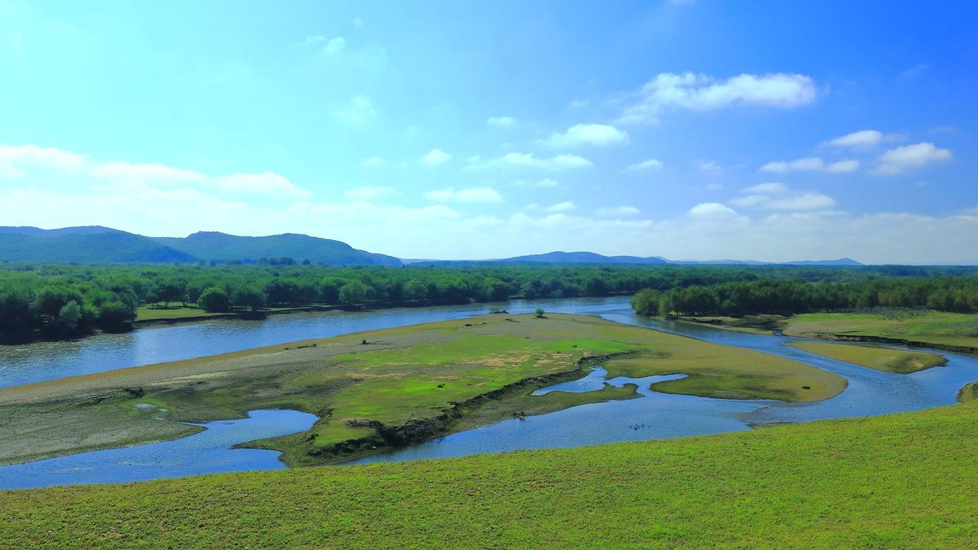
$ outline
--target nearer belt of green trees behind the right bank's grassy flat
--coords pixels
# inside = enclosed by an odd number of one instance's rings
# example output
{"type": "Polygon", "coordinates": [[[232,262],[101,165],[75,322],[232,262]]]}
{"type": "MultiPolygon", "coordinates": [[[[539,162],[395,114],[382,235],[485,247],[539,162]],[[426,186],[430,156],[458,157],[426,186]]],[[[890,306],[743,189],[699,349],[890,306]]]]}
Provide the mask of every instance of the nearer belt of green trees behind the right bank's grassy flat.
{"type": "Polygon", "coordinates": [[[880,277],[867,280],[750,280],[670,289],[645,288],[632,298],[645,316],[742,316],[859,311],[876,307],[978,312],[978,278],[880,277]]]}

